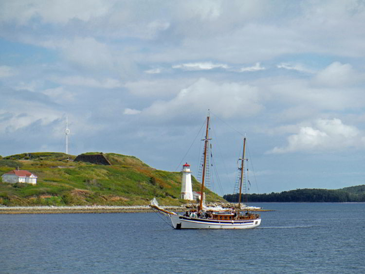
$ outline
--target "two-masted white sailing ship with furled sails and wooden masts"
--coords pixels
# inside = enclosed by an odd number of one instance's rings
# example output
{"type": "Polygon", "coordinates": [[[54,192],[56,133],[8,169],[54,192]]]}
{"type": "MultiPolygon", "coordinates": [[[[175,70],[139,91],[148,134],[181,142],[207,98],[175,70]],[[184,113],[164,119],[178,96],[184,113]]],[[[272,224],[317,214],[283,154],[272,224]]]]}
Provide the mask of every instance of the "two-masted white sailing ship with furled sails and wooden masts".
{"type": "Polygon", "coordinates": [[[207,149],[209,143],[209,120],[210,116],[207,116],[206,124],[206,134],[204,141],[204,154],[203,154],[203,168],[201,177],[201,198],[198,205],[197,211],[192,210],[190,214],[181,215],[175,212],[167,211],[161,208],[156,199],[151,201],[150,207],[158,210],[159,212],[167,215],[171,219],[173,228],[175,229],[247,229],[256,228],[261,223],[261,218],[259,214],[252,213],[250,208],[244,206],[241,208],[241,196],[242,196],[242,181],[244,178],[244,161],[245,159],[245,146],[246,137],[243,140],[243,155],[241,165],[239,170],[239,196],[238,205],[236,208],[206,208],[203,204],[203,193],[204,193],[204,183],[206,176],[206,164],[207,164],[207,149]]]}

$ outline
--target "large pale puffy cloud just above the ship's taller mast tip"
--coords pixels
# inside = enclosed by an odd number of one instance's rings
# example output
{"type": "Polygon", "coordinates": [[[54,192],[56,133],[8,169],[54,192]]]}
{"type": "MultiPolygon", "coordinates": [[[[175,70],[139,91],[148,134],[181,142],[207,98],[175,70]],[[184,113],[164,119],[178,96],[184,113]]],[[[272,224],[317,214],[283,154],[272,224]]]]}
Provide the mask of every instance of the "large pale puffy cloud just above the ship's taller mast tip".
{"type": "Polygon", "coordinates": [[[261,110],[255,87],[236,82],[213,82],[205,78],[181,90],[169,101],[156,101],[142,113],[159,120],[205,114],[211,109],[219,116],[250,116],[261,110]]]}

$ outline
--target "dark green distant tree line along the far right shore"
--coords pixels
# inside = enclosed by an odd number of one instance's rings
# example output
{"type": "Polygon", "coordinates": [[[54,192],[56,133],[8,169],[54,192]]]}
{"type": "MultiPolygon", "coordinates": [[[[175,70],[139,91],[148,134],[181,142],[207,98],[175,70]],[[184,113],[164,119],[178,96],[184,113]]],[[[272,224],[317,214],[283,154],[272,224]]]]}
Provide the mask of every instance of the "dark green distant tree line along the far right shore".
{"type": "MultiPolygon", "coordinates": [[[[223,198],[226,201],[238,202],[238,194],[227,194],[223,198]]],[[[241,197],[245,202],[246,197],[241,197]]],[[[247,201],[251,202],[359,202],[365,201],[364,192],[352,192],[344,189],[296,189],[270,194],[248,194],[247,201]]]]}

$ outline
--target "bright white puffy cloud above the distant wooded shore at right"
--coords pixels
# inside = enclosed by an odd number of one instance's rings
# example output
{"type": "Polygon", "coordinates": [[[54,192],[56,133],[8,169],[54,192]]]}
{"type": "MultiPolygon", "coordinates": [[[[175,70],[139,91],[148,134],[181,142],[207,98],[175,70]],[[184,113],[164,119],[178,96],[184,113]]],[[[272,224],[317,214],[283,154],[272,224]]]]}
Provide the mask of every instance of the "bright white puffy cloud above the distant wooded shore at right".
{"type": "Polygon", "coordinates": [[[358,128],[345,125],[340,119],[318,119],[314,122],[314,126],[300,127],[297,134],[290,135],[287,146],[275,146],[268,153],[341,150],[364,146],[363,139],[364,136],[361,136],[361,131],[358,128]]]}

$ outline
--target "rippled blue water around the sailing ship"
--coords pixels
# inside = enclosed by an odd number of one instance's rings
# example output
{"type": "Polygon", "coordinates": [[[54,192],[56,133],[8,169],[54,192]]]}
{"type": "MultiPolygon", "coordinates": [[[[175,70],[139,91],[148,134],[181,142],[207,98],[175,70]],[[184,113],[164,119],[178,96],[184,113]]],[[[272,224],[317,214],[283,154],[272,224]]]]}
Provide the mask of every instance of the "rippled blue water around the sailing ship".
{"type": "Polygon", "coordinates": [[[260,203],[253,230],[156,213],[0,215],[1,273],[365,273],[365,203],[260,203]]]}

